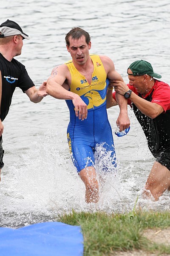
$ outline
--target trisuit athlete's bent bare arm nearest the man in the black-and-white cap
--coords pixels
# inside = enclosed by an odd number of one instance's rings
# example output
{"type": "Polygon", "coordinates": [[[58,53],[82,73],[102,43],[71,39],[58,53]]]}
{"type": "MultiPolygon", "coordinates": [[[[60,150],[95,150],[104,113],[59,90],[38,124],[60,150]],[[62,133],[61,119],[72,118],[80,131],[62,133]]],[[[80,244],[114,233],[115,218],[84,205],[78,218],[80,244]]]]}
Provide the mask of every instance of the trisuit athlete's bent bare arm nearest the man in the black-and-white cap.
{"type": "Polygon", "coordinates": [[[76,116],[79,119],[86,119],[88,115],[87,105],[76,93],[69,91],[69,84],[65,80],[71,81],[71,74],[66,65],[54,67],[51,76],[47,80],[47,93],[56,99],[70,99],[75,107],[76,116]]]}

